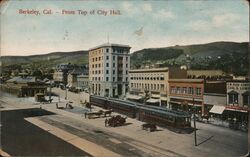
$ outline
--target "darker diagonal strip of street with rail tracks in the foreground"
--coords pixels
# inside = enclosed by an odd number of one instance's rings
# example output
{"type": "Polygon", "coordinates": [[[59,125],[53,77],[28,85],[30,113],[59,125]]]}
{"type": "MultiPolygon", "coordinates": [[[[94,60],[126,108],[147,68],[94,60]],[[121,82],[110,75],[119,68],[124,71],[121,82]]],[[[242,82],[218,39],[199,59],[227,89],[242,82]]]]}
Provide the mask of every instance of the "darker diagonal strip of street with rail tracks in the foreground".
{"type": "MultiPolygon", "coordinates": [[[[61,128],[65,131],[73,133],[78,137],[84,138],[93,143],[98,143],[99,145],[109,149],[122,156],[137,156],[137,157],[155,157],[155,156],[165,156],[165,157],[181,157],[179,153],[173,152],[171,150],[159,148],[150,144],[146,144],[136,139],[129,138],[127,136],[122,136],[114,132],[109,132],[100,127],[94,127],[92,125],[82,123],[80,121],[75,121],[60,115],[43,116],[39,118],[40,120],[61,128]],[[144,147],[139,149],[138,147],[144,147]],[[147,151],[145,149],[148,149],[147,151]]],[[[126,126],[124,126],[126,127],[126,126]]]]}

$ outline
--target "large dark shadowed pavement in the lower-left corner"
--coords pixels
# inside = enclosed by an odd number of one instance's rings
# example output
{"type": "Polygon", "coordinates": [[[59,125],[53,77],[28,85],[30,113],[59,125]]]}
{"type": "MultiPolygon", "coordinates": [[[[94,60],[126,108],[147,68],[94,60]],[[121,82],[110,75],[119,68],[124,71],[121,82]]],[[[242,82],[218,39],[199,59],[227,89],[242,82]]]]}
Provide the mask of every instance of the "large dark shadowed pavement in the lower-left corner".
{"type": "Polygon", "coordinates": [[[11,156],[91,156],[24,120],[41,109],[1,111],[1,147],[11,156]]]}

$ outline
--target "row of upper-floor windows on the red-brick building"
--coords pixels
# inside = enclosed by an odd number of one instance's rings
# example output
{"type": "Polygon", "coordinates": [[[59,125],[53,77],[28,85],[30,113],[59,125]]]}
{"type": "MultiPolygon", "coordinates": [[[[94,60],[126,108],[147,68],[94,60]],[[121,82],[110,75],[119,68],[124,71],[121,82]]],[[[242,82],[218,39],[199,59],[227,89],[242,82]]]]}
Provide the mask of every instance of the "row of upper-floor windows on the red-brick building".
{"type": "Polygon", "coordinates": [[[201,95],[201,88],[194,88],[194,87],[170,87],[170,92],[172,94],[195,94],[201,95]]]}

